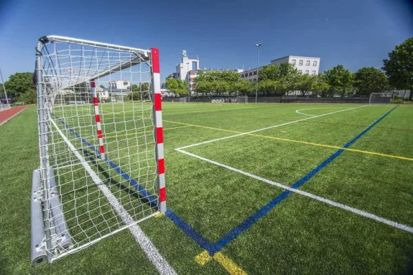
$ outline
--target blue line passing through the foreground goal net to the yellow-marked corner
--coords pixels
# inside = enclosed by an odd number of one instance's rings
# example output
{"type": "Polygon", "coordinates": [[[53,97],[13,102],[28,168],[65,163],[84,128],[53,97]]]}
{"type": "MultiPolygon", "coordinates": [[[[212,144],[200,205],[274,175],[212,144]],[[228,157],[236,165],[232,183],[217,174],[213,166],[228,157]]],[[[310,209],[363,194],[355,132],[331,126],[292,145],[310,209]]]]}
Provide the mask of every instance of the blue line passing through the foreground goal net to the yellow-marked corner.
{"type": "MultiPolygon", "coordinates": [[[[89,144],[89,142],[87,142],[83,137],[78,135],[78,133],[76,133],[72,128],[70,128],[70,126],[68,126],[57,115],[55,115],[54,113],[52,113],[52,115],[54,115],[54,117],[56,117],[66,127],[66,129],[68,129],[71,133],[73,133],[76,137],[78,137],[84,144],[86,144],[92,151],[94,151],[96,155],[100,155],[100,151],[98,149],[92,146],[92,144],[89,144]]],[[[138,190],[138,192],[140,192],[141,195],[148,197],[151,203],[158,205],[158,199],[150,195],[149,192],[147,192],[145,188],[140,186],[138,182],[136,182],[129,175],[127,175],[127,173],[125,173],[122,169],[120,169],[119,166],[114,164],[114,162],[109,160],[107,157],[105,157],[105,162],[107,162],[112,168],[114,168],[114,170],[116,170],[116,172],[118,172],[119,175],[121,175],[124,179],[129,181],[129,183],[132,186],[134,186],[134,188],[136,188],[136,190],[138,190]]],[[[180,218],[178,214],[176,214],[169,208],[167,208],[167,212],[165,214],[169,219],[171,219],[171,221],[173,221],[173,223],[175,223],[178,226],[178,228],[180,228],[180,230],[182,230],[185,234],[187,234],[187,236],[189,236],[193,241],[195,241],[195,243],[198,243],[198,245],[200,245],[201,248],[207,251],[211,251],[212,244],[209,243],[209,241],[207,241],[207,239],[205,239],[199,232],[193,229],[191,225],[189,225],[182,218],[180,218]]]]}

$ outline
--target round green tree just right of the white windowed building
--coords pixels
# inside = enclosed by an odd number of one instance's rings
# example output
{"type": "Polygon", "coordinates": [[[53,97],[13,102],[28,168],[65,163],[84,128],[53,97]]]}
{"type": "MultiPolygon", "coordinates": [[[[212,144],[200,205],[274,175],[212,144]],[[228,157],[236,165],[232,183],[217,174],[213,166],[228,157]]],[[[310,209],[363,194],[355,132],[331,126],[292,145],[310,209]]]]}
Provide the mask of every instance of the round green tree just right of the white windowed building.
{"type": "Polygon", "coordinates": [[[352,74],[348,69],[344,69],[343,65],[337,65],[332,69],[324,72],[326,82],[330,85],[330,89],[343,97],[346,93],[352,90],[354,82],[352,74]]]}

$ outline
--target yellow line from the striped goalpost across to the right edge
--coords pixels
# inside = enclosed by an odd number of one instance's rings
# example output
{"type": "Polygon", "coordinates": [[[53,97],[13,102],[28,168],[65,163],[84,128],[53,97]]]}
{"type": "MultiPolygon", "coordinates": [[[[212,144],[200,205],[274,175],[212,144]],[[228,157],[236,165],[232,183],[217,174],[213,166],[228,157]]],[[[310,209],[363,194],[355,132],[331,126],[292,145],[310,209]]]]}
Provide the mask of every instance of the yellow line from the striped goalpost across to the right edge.
{"type": "MultiPolygon", "coordinates": [[[[225,131],[225,132],[230,132],[230,133],[242,133],[242,132],[239,132],[239,131],[232,131],[232,130],[214,128],[214,127],[209,127],[209,126],[201,126],[201,125],[188,124],[188,123],[182,123],[182,122],[173,122],[173,121],[170,121],[170,120],[164,120],[164,121],[165,122],[170,122],[170,123],[187,125],[187,126],[200,127],[200,128],[205,128],[205,129],[225,131]]],[[[411,157],[402,157],[400,155],[387,155],[387,154],[376,153],[376,152],[371,152],[371,151],[363,151],[363,150],[352,149],[352,148],[343,148],[343,147],[340,147],[340,146],[332,146],[332,145],[319,144],[319,143],[313,143],[313,142],[304,142],[304,141],[301,141],[301,140],[290,140],[288,138],[282,138],[282,137],[271,137],[271,136],[268,136],[268,135],[257,135],[255,133],[247,133],[246,135],[251,135],[251,136],[255,136],[255,137],[264,137],[264,138],[269,138],[271,140],[282,140],[282,141],[285,141],[285,142],[296,142],[296,143],[301,143],[301,144],[322,146],[322,147],[327,147],[327,148],[343,149],[343,150],[346,150],[346,151],[365,153],[365,154],[370,154],[370,155],[381,155],[382,157],[392,157],[392,158],[396,158],[396,159],[404,159],[404,160],[411,160],[411,161],[413,160],[413,158],[411,158],[411,157]]]]}

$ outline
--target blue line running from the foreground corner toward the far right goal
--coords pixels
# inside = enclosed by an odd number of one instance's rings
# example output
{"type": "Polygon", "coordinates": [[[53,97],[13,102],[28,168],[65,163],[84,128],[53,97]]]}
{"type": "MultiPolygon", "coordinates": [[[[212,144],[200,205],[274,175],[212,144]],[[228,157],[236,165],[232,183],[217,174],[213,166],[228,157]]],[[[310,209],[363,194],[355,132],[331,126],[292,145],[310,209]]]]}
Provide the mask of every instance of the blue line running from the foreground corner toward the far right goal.
{"type": "MultiPolygon", "coordinates": [[[[310,173],[308,173],[307,175],[305,175],[304,177],[302,177],[301,179],[299,179],[299,181],[297,181],[295,184],[293,184],[293,188],[298,189],[300,186],[302,186],[303,184],[305,184],[309,179],[311,179],[312,177],[314,177],[314,175],[316,175],[322,168],[326,167],[330,162],[332,162],[335,158],[337,158],[339,155],[341,155],[341,153],[343,153],[343,151],[345,151],[344,148],[348,148],[349,146],[351,146],[354,142],[356,142],[361,136],[363,136],[365,133],[367,133],[368,131],[370,131],[370,129],[372,129],[372,127],[374,127],[374,125],[376,125],[377,123],[381,122],[381,120],[383,120],[383,118],[385,118],[389,113],[391,113],[394,109],[396,109],[398,106],[394,107],[393,109],[391,109],[390,111],[388,111],[387,113],[385,113],[381,118],[379,118],[379,120],[377,120],[376,122],[374,122],[373,124],[371,124],[370,126],[368,126],[368,128],[364,131],[362,131],[361,133],[359,133],[359,135],[357,135],[356,137],[354,137],[352,140],[350,140],[350,142],[348,142],[346,145],[343,146],[343,149],[339,149],[336,153],[332,154],[330,157],[328,157],[328,159],[326,159],[324,162],[322,162],[321,164],[319,164],[319,166],[317,166],[316,168],[314,168],[313,170],[310,171],[310,173]]],[[[277,204],[279,204],[280,202],[284,201],[284,199],[286,199],[288,197],[288,195],[290,195],[292,193],[292,191],[290,190],[285,190],[284,192],[282,192],[280,195],[278,195],[278,197],[276,197],[275,199],[273,199],[272,201],[270,201],[269,203],[267,203],[264,207],[262,207],[260,210],[258,210],[257,212],[255,212],[254,214],[252,214],[250,217],[248,217],[248,219],[244,220],[240,225],[238,225],[237,227],[235,227],[233,230],[231,230],[228,234],[226,234],[225,236],[222,237],[222,239],[220,239],[219,241],[217,241],[216,243],[214,243],[213,247],[211,250],[209,250],[209,254],[211,256],[213,256],[213,254],[219,252],[220,250],[222,250],[222,248],[224,248],[226,245],[228,245],[229,243],[231,243],[231,241],[233,241],[235,238],[237,238],[238,235],[240,235],[242,232],[244,232],[245,230],[247,230],[248,228],[251,227],[251,225],[253,225],[256,221],[258,221],[260,218],[264,217],[264,215],[266,213],[268,213],[268,211],[270,211],[271,209],[275,208],[275,206],[277,206],[277,204]]]]}

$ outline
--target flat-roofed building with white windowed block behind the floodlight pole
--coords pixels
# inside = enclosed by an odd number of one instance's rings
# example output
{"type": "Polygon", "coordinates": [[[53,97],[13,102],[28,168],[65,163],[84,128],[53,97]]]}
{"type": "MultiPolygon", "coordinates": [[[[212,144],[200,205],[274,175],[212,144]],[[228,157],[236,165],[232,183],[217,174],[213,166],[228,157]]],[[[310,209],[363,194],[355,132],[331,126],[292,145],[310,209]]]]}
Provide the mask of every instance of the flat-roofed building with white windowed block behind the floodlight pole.
{"type": "MultiPolygon", "coordinates": [[[[316,76],[319,74],[320,58],[308,57],[308,56],[284,56],[271,61],[270,65],[277,65],[281,63],[290,63],[297,68],[300,74],[310,74],[316,76]]],[[[260,69],[264,66],[260,67],[260,69]]],[[[240,74],[241,79],[256,81],[257,80],[257,68],[248,69],[244,73],[240,74]]]]}

